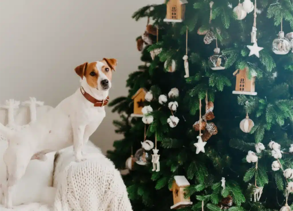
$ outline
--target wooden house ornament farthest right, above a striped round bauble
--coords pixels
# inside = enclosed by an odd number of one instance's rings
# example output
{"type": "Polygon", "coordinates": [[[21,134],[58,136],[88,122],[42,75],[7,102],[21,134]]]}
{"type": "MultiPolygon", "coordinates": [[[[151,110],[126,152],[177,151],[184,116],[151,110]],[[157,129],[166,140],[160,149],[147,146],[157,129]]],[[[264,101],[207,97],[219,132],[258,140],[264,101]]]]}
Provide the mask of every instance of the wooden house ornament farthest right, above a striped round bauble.
{"type": "Polygon", "coordinates": [[[251,79],[248,78],[248,68],[242,70],[236,70],[233,75],[236,75],[236,86],[233,94],[245,94],[245,95],[257,95],[255,92],[255,77],[256,72],[251,72],[251,79]]]}

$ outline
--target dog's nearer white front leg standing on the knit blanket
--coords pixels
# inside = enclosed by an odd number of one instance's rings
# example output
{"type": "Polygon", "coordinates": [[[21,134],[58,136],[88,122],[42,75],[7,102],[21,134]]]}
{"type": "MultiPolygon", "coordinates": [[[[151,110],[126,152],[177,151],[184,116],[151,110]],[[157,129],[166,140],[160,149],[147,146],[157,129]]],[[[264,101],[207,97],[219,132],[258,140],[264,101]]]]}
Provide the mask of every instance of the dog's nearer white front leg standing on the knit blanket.
{"type": "Polygon", "coordinates": [[[82,147],[84,144],[84,130],[86,126],[73,126],[73,148],[74,148],[74,155],[75,161],[80,162],[83,160],[82,156],[82,147]]]}

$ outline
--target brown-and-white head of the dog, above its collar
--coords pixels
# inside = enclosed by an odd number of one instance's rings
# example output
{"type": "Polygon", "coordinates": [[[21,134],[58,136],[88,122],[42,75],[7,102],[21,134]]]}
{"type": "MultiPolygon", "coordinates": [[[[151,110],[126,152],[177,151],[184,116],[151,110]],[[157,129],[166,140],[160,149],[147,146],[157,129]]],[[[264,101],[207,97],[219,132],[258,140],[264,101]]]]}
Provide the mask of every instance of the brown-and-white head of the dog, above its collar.
{"type": "Polygon", "coordinates": [[[107,91],[112,84],[112,71],[116,69],[117,60],[103,58],[102,61],[84,63],[74,70],[81,79],[86,79],[87,84],[99,91],[107,91]]]}

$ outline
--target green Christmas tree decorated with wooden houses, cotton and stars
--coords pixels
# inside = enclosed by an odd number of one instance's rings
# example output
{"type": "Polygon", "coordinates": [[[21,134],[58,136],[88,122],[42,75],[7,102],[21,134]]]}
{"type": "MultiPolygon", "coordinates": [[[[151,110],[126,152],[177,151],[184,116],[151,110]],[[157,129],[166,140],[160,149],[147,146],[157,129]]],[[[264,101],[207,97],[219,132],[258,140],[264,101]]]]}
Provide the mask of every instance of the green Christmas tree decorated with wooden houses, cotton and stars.
{"type": "Polygon", "coordinates": [[[111,103],[124,138],[108,152],[131,169],[133,210],[291,210],[292,14],[290,0],[169,0],[134,13],[154,23],[137,38],[143,65],[128,96],[111,103]]]}

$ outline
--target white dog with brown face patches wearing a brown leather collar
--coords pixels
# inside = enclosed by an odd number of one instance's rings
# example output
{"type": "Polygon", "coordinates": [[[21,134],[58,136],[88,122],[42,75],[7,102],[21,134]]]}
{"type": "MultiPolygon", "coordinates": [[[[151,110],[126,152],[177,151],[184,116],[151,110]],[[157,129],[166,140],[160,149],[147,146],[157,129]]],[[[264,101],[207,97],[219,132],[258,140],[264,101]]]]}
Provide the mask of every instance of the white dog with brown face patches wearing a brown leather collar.
{"type": "Polygon", "coordinates": [[[84,63],[75,68],[81,86],[56,108],[22,130],[11,131],[0,124],[0,132],[8,139],[3,159],[7,181],[2,183],[4,205],[12,207],[13,186],[24,175],[31,159],[45,159],[45,154],[73,145],[76,162],[83,160],[82,148],[105,117],[112,87],[116,59],[84,63]],[[5,184],[5,185],[4,185],[5,184]]]}

